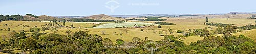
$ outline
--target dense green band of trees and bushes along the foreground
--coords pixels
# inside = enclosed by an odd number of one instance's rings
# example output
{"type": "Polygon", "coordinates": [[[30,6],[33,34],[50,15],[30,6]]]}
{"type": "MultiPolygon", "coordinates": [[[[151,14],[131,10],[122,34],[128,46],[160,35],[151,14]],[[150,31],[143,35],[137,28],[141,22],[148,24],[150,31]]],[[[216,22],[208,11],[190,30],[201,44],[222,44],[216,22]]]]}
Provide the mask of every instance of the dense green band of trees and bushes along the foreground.
{"type": "MultiPolygon", "coordinates": [[[[152,41],[145,37],[133,37],[133,42],[102,38],[87,31],[70,30],[66,34],[40,33],[40,28],[31,28],[30,32],[12,31],[8,36],[2,36],[0,52],[14,53],[12,50],[22,50],[22,53],[256,53],[256,43],[244,35],[206,36],[190,45],[185,45],[181,37],[164,35],[160,41],[152,41]]],[[[231,32],[231,31],[230,31],[231,32]]]]}

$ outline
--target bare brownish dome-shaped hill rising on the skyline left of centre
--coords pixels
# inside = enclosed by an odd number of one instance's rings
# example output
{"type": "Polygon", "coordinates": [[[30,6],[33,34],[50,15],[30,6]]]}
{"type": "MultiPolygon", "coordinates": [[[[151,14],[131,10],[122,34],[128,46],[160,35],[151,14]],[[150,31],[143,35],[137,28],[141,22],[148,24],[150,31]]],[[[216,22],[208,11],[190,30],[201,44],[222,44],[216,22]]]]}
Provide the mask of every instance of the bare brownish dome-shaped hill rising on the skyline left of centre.
{"type": "Polygon", "coordinates": [[[123,18],[116,18],[116,17],[111,17],[105,14],[100,14],[100,15],[92,15],[88,17],[84,17],[85,19],[94,19],[94,20],[125,20],[123,18]]]}

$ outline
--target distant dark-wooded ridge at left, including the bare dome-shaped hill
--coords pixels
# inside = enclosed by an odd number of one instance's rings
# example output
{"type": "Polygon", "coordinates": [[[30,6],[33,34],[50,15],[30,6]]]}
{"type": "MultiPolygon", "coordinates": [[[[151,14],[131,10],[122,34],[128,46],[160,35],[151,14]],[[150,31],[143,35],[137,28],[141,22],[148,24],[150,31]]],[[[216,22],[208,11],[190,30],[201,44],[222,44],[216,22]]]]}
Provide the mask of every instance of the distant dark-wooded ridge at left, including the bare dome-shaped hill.
{"type": "MultiPolygon", "coordinates": [[[[113,18],[109,16],[98,16],[94,15],[86,18],[57,18],[47,15],[35,16],[32,14],[22,15],[0,15],[1,21],[14,20],[14,21],[74,21],[74,22],[113,22],[116,20],[121,20],[121,18],[113,18]],[[95,17],[96,16],[96,17],[95,17]]],[[[1,22],[0,21],[0,22],[1,22]]]]}

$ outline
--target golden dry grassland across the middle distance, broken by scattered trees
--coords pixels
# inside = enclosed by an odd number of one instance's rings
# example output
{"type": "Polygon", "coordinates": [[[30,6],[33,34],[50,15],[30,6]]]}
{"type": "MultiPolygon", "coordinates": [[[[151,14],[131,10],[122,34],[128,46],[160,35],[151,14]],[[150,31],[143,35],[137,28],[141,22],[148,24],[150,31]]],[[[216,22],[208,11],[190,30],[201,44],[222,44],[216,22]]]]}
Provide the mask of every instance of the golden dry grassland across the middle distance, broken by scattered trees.
{"type": "MultiPolygon", "coordinates": [[[[176,33],[177,30],[188,30],[188,29],[203,29],[205,27],[209,27],[208,25],[204,25],[205,19],[183,19],[183,18],[161,18],[161,19],[167,19],[163,22],[170,22],[175,23],[177,25],[162,25],[162,28],[157,28],[157,26],[151,26],[146,28],[113,28],[116,26],[125,26],[125,27],[131,27],[134,24],[143,26],[146,25],[152,25],[154,21],[152,22],[129,22],[129,23],[114,23],[114,22],[102,22],[101,24],[95,24],[92,22],[66,22],[65,26],[73,24],[73,29],[67,29],[67,28],[58,28],[58,33],[65,34],[67,30],[71,30],[72,32],[82,30],[82,31],[88,31],[90,34],[98,34],[102,36],[103,38],[110,38],[113,42],[116,42],[116,39],[123,39],[124,41],[131,42],[133,37],[139,37],[140,39],[144,39],[145,37],[149,37],[150,40],[158,41],[163,39],[163,36],[160,36],[159,31],[163,31],[163,34],[168,35],[182,35],[179,33],[176,33]],[[109,24],[108,24],[109,23],[109,24]],[[96,28],[85,28],[85,27],[92,27],[93,25],[97,25],[96,28]],[[79,27],[81,27],[79,29],[79,27]],[[169,34],[168,28],[171,28],[173,30],[173,34],[169,34]],[[143,29],[144,31],[140,31],[140,29],[143,29]],[[102,34],[102,31],[106,35],[102,34]],[[154,33],[156,31],[156,33],[154,33]],[[114,35],[118,34],[118,35],[114,35]],[[120,35],[122,34],[122,36],[120,35]]],[[[226,24],[236,24],[236,26],[243,26],[248,24],[256,24],[255,19],[242,19],[242,18],[212,18],[209,19],[209,22],[215,22],[215,23],[226,23],[226,24]]],[[[37,26],[38,28],[41,28],[41,25],[44,25],[45,23],[50,22],[32,22],[32,21],[2,21],[0,23],[0,29],[7,30],[8,27],[10,27],[11,30],[28,30],[31,27],[37,26]],[[8,26],[4,26],[4,24],[8,24],[8,26]],[[29,25],[29,27],[23,27],[22,25],[29,25]]],[[[214,30],[217,27],[210,26],[212,30],[214,30]]],[[[0,35],[7,35],[10,31],[0,31],[0,35]]],[[[49,30],[45,32],[50,32],[49,30]]],[[[256,30],[248,30],[243,32],[234,33],[234,35],[240,35],[243,34],[245,36],[248,36],[252,38],[253,40],[256,40],[256,30]]],[[[222,35],[215,35],[215,36],[222,36],[222,35]]],[[[0,38],[1,39],[1,38],[0,38]]],[[[183,41],[185,44],[190,44],[191,42],[197,42],[197,40],[202,40],[203,37],[200,36],[188,36],[183,41]]]]}

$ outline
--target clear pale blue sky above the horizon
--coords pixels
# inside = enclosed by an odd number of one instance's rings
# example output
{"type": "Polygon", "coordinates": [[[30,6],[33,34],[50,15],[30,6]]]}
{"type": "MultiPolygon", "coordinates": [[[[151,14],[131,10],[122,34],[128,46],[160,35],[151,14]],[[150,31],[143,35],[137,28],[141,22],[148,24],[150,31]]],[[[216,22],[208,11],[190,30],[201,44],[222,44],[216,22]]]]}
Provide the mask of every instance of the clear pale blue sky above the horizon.
{"type": "Polygon", "coordinates": [[[1,0],[3,15],[88,16],[255,12],[256,0],[1,0]]]}

